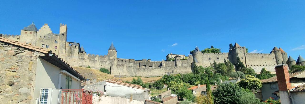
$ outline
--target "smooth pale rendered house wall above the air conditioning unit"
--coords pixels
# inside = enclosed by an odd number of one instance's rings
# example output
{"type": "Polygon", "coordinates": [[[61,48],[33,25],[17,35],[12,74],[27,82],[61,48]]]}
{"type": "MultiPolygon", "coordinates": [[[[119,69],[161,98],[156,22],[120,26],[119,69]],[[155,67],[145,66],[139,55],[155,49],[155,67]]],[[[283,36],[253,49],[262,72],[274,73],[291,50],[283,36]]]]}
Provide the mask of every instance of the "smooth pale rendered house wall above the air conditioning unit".
{"type": "MultiPolygon", "coordinates": [[[[40,88],[66,88],[66,74],[60,72],[60,68],[55,65],[38,58],[37,60],[37,71],[35,77],[35,88],[34,88],[34,98],[39,98],[40,88]],[[59,75],[60,77],[60,87],[59,87],[59,75]]],[[[70,76],[71,77],[71,76],[70,76]]],[[[72,78],[71,89],[80,89],[80,81],[72,78]]]]}

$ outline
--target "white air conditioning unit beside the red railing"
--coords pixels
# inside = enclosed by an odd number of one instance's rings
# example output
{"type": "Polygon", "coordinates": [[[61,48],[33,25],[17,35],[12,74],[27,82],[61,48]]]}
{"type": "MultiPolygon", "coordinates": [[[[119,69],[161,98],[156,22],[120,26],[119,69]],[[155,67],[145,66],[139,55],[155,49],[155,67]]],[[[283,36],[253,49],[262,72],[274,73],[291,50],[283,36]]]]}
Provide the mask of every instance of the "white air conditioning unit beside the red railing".
{"type": "Polygon", "coordinates": [[[60,104],[61,89],[40,88],[38,104],[60,104]]]}

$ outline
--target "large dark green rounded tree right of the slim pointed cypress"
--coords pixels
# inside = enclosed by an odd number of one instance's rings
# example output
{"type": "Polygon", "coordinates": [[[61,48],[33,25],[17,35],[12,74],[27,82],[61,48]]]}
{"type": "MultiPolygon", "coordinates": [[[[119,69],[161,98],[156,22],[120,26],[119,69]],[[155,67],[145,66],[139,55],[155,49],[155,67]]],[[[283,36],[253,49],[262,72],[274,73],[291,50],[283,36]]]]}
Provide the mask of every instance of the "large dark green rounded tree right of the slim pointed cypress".
{"type": "Polygon", "coordinates": [[[242,88],[234,83],[223,83],[213,90],[216,104],[237,104],[242,95],[242,88]]]}

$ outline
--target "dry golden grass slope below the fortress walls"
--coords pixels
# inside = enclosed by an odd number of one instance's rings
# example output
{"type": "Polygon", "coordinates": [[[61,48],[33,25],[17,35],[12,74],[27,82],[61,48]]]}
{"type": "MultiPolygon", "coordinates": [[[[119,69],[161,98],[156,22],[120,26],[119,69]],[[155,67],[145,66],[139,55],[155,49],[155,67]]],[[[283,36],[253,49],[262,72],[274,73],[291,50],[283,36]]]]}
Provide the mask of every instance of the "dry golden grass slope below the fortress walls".
{"type": "MultiPolygon", "coordinates": [[[[105,79],[113,79],[115,78],[113,75],[109,75],[106,73],[103,73],[101,71],[99,71],[98,69],[93,69],[93,68],[85,68],[85,67],[73,67],[74,69],[76,69],[78,72],[81,73],[81,75],[84,75],[87,79],[96,79],[96,81],[102,81],[105,79]]],[[[120,78],[123,79],[123,81],[132,81],[133,78],[137,78],[137,77],[124,77],[124,78],[120,78]]],[[[149,78],[145,78],[145,77],[140,77],[144,83],[147,82],[152,82],[152,81],[156,81],[162,78],[161,77],[149,77],[149,78]]],[[[119,79],[119,78],[115,78],[115,79],[119,79]]]]}

